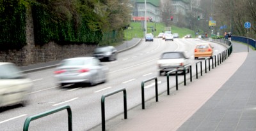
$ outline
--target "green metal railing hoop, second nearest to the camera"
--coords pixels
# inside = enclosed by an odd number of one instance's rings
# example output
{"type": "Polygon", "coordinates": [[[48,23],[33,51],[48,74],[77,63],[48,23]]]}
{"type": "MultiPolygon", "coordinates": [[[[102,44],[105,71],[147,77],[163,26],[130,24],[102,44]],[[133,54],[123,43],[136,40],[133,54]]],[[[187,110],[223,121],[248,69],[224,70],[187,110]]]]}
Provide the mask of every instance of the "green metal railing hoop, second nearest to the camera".
{"type": "Polygon", "coordinates": [[[102,95],[101,97],[101,121],[102,121],[102,131],[106,130],[106,125],[105,125],[105,98],[114,95],[115,93],[118,92],[123,92],[124,93],[124,119],[127,119],[127,95],[126,95],[126,90],[125,88],[121,88],[120,90],[115,90],[110,93],[106,93],[102,95]]]}

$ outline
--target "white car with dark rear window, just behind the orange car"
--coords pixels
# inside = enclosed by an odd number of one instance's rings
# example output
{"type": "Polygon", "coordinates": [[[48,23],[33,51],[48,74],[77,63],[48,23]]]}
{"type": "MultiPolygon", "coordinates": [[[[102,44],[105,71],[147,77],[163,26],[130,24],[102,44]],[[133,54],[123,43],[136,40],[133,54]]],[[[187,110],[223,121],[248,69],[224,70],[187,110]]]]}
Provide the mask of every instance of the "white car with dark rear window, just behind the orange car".
{"type": "MultiPolygon", "coordinates": [[[[184,72],[184,66],[188,64],[190,64],[190,60],[189,57],[186,57],[185,52],[164,52],[157,61],[159,76],[163,72],[166,74],[174,69],[186,73],[184,72]]],[[[186,71],[189,72],[189,68],[186,71]]]]}

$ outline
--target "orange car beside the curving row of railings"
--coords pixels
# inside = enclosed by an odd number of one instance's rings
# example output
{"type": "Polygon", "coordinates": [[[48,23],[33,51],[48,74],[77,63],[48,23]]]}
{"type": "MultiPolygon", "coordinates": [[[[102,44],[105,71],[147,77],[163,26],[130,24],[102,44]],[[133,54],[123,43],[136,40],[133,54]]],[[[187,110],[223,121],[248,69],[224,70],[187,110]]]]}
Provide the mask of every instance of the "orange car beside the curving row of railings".
{"type": "Polygon", "coordinates": [[[212,58],[212,54],[213,54],[212,49],[213,49],[213,47],[208,43],[196,45],[195,52],[194,52],[195,59],[198,59],[198,57],[211,57],[212,58]]]}

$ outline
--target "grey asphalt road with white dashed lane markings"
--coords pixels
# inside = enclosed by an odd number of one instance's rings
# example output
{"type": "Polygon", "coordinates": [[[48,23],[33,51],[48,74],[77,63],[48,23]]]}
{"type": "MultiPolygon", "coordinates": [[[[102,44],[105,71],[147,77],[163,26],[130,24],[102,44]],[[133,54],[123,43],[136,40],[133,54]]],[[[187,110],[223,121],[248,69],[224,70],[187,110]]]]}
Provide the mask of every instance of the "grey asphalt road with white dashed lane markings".
{"type": "MultiPolygon", "coordinates": [[[[29,72],[27,75],[34,83],[33,90],[29,93],[29,104],[26,107],[2,111],[0,128],[1,130],[22,130],[28,116],[68,105],[72,109],[73,130],[91,130],[101,124],[100,100],[102,95],[125,88],[127,107],[131,109],[141,104],[141,81],[153,77],[157,77],[159,82],[159,93],[166,92],[166,76],[158,76],[156,64],[161,53],[185,51],[191,58],[193,75],[195,75],[195,62],[198,60],[193,58],[194,48],[196,43],[204,42],[201,39],[174,39],[174,41],[154,39],[154,42],[147,43],[142,40],[138,46],[118,53],[118,60],[104,62],[109,67],[108,82],[92,87],[59,88],[54,79],[54,68],[29,72]]],[[[211,44],[214,46],[214,54],[225,50],[223,45],[211,44]]],[[[174,79],[174,76],[172,77],[170,79],[174,79]]],[[[183,79],[180,75],[179,82],[183,79]]],[[[155,97],[153,82],[145,85],[146,100],[155,97]]],[[[171,87],[175,85],[174,80],[170,82],[171,87]]],[[[106,120],[123,113],[122,93],[106,98],[105,111],[106,120]]],[[[67,111],[61,111],[32,121],[29,130],[68,130],[67,120],[67,111]]]]}

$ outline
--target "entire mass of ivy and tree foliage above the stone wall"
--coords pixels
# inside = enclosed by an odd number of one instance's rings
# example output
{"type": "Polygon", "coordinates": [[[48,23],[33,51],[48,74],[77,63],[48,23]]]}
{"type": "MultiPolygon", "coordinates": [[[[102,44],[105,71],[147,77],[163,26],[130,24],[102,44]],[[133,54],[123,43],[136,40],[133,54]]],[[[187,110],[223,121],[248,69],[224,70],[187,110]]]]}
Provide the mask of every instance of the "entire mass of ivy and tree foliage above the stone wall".
{"type": "Polygon", "coordinates": [[[122,41],[122,27],[129,21],[122,17],[130,18],[124,14],[130,13],[116,11],[118,4],[111,0],[0,0],[0,49],[26,45],[26,9],[30,7],[36,45],[122,41]]]}

